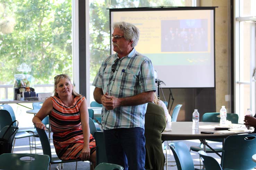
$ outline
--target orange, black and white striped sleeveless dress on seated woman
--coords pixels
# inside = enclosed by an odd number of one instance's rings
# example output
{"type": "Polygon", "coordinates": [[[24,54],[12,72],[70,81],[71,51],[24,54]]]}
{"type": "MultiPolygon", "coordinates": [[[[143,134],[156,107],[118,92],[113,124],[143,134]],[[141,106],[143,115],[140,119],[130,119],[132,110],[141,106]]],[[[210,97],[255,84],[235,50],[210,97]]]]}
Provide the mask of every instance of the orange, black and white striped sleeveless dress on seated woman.
{"type": "MultiPolygon", "coordinates": [[[[84,136],[79,109],[85,97],[76,96],[70,107],[63,104],[60,98],[56,96],[50,98],[53,109],[49,118],[55,151],[61,160],[80,160],[80,154],[84,147],[84,136]]],[[[91,154],[96,150],[92,134],[90,135],[89,148],[91,154]]]]}

